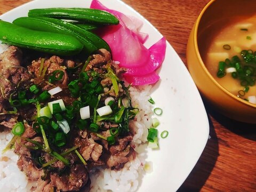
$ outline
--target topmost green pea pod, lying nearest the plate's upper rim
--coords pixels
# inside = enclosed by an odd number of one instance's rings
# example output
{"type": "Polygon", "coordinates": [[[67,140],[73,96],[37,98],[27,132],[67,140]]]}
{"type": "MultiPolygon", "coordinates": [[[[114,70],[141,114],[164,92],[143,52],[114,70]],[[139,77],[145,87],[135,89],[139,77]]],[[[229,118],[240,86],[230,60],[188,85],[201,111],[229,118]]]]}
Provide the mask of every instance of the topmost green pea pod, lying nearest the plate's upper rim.
{"type": "Polygon", "coordinates": [[[51,17],[86,21],[101,25],[117,25],[119,20],[111,13],[89,8],[47,8],[29,10],[28,17],[51,17]]]}

